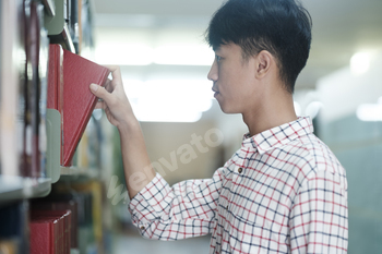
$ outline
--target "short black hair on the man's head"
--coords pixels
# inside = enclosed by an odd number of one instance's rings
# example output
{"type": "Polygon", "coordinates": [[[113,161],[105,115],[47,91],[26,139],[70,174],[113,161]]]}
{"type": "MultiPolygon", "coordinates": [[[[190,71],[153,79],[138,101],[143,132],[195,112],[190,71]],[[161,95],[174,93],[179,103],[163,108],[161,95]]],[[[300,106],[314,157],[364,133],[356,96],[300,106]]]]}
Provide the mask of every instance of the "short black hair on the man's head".
{"type": "Polygon", "coordinates": [[[311,26],[308,11],[295,0],[229,0],[212,17],[206,40],[214,50],[234,43],[243,59],[267,50],[285,88],[294,93],[309,57],[311,26]]]}

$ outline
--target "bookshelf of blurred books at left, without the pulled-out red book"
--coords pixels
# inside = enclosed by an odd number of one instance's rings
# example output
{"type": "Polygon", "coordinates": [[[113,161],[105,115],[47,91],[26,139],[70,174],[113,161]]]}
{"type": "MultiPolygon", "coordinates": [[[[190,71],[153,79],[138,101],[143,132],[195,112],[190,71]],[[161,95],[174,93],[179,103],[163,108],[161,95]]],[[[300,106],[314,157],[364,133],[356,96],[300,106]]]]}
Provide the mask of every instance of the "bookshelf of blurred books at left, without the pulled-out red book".
{"type": "Polygon", "coordinates": [[[31,250],[32,222],[71,209],[75,233],[65,219],[55,217],[64,225],[57,230],[74,235],[70,253],[110,253],[102,220],[108,209],[103,190],[111,174],[103,170],[109,161],[103,161],[102,149],[110,144],[102,147],[102,140],[111,125],[91,117],[73,166],[62,167],[62,118],[47,108],[49,44],[79,56],[91,52],[91,0],[0,1],[0,250],[36,253],[31,250]]]}

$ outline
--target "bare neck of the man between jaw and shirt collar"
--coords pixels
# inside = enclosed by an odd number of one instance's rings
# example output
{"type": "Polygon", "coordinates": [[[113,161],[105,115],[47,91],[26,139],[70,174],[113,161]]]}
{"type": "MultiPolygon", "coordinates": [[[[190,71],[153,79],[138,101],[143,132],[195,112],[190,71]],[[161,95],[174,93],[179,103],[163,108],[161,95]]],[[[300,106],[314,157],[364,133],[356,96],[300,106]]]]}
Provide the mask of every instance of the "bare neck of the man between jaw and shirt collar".
{"type": "Polygon", "coordinates": [[[256,135],[263,131],[279,126],[297,120],[294,100],[291,96],[277,96],[272,100],[265,100],[261,109],[252,109],[242,113],[250,135],[256,135]]]}

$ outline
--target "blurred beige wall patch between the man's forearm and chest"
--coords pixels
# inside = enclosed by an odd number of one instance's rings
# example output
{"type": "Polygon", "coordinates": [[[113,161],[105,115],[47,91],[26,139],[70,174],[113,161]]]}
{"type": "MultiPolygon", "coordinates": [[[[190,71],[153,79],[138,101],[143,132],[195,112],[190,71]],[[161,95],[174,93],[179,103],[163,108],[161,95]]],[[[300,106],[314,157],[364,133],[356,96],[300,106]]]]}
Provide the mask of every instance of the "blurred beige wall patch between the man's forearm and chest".
{"type": "Polygon", "coordinates": [[[187,179],[211,178],[213,172],[223,166],[222,146],[215,146],[215,143],[217,145],[220,142],[217,135],[212,133],[214,131],[210,131],[216,130],[213,121],[142,122],[141,126],[150,159],[156,164],[156,170],[170,185],[187,179]],[[208,145],[210,140],[215,147],[208,145]],[[198,148],[198,142],[202,148],[198,148]]]}

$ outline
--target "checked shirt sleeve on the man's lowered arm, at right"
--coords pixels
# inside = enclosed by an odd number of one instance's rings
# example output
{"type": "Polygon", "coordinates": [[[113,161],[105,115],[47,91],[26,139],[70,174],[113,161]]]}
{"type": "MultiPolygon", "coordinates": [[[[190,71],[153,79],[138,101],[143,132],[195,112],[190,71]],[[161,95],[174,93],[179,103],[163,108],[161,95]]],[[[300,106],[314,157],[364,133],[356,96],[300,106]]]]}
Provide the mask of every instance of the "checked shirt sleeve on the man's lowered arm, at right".
{"type": "Polygon", "coordinates": [[[321,170],[307,180],[293,206],[291,253],[347,253],[347,190],[341,177],[321,170]]]}

